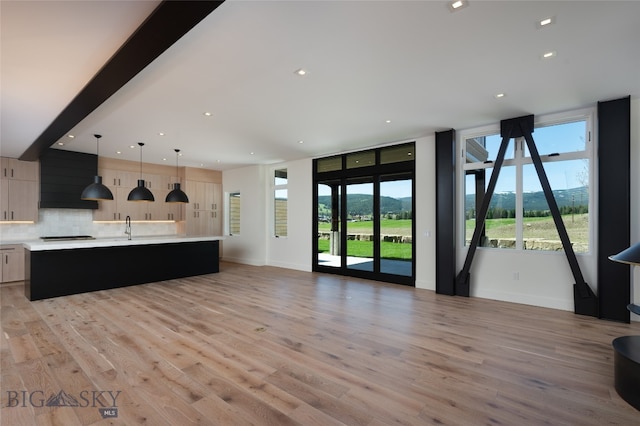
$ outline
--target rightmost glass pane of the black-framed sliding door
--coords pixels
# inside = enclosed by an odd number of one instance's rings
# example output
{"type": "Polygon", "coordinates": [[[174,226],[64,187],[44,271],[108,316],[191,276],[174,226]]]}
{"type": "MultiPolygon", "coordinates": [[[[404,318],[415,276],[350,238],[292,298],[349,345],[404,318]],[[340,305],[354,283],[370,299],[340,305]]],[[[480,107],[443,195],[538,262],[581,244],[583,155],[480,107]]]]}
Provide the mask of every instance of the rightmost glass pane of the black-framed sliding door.
{"type": "Polygon", "coordinates": [[[379,199],[380,272],[412,276],[412,179],[406,176],[382,176],[379,199]]]}

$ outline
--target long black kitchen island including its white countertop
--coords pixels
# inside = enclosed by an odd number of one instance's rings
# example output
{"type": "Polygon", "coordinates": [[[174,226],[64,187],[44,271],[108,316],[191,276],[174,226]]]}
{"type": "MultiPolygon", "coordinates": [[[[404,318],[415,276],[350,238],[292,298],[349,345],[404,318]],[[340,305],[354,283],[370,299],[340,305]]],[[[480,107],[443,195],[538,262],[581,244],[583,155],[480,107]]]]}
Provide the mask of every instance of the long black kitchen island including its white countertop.
{"type": "Polygon", "coordinates": [[[26,242],[29,300],[219,272],[223,237],[98,238],[26,242]]]}

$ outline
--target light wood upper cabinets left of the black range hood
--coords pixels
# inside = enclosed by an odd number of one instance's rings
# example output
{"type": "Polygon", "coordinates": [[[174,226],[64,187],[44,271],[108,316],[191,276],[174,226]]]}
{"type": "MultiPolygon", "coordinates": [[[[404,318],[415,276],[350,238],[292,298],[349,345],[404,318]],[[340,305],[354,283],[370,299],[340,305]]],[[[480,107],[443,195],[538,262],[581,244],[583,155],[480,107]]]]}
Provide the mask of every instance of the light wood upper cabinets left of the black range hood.
{"type": "Polygon", "coordinates": [[[0,220],[38,220],[38,162],[0,158],[0,220]]]}

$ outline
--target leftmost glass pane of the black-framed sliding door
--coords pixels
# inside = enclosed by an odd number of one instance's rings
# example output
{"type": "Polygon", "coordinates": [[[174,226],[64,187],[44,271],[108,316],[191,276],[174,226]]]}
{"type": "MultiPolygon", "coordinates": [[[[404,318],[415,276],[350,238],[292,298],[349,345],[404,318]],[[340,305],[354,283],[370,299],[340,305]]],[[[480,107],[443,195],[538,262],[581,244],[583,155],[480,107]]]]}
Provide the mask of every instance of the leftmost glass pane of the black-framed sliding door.
{"type": "Polygon", "coordinates": [[[339,268],[340,181],[318,183],[318,265],[339,268]]]}

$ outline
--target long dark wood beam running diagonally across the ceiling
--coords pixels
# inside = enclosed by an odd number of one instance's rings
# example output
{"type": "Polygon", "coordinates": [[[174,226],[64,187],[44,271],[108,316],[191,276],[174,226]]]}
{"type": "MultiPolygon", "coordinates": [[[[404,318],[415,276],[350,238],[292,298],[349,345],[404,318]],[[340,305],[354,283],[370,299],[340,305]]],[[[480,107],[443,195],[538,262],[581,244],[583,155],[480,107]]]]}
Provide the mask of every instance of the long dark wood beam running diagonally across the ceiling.
{"type": "Polygon", "coordinates": [[[153,62],[224,1],[165,0],[20,156],[36,161],[75,125],[153,62]]]}

